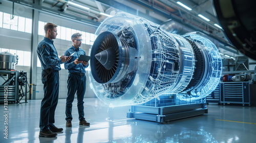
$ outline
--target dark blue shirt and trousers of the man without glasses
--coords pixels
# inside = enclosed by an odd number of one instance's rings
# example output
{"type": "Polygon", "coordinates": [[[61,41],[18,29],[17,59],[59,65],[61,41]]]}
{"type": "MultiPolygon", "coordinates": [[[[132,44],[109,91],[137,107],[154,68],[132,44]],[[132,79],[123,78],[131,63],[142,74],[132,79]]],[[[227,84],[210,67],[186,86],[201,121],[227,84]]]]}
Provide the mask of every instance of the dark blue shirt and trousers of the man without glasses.
{"type": "Polygon", "coordinates": [[[37,55],[41,63],[41,80],[44,84],[39,127],[40,131],[47,131],[54,127],[54,115],[59,95],[59,70],[62,62],[58,58],[53,40],[46,37],[38,44],[37,55]]]}

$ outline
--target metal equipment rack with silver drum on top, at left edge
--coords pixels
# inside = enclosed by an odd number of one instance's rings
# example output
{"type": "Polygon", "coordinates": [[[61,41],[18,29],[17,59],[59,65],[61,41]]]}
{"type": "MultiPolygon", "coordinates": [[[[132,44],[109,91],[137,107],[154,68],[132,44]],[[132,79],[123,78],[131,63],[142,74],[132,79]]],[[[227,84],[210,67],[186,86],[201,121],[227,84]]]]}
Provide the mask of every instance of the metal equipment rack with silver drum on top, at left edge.
{"type": "Polygon", "coordinates": [[[17,63],[18,55],[0,52],[0,103],[20,103],[23,97],[27,102],[27,73],[15,71],[17,63]]]}

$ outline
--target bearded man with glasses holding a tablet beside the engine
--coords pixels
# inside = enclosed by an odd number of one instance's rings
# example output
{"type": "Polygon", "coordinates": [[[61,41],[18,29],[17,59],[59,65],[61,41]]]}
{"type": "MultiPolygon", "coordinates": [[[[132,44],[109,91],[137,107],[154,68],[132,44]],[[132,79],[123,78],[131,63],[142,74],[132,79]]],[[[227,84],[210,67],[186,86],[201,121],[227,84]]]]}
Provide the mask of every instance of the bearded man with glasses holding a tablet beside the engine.
{"type": "Polygon", "coordinates": [[[71,36],[73,45],[65,52],[65,56],[71,56],[71,60],[65,62],[65,69],[68,69],[68,97],[66,101],[66,127],[72,127],[72,103],[74,101],[75,93],[77,95],[77,109],[79,115],[79,125],[89,126],[84,118],[83,111],[83,97],[86,93],[86,70],[89,66],[86,61],[78,61],[81,54],[86,55],[86,51],[79,48],[82,43],[80,33],[75,33],[71,36]]]}

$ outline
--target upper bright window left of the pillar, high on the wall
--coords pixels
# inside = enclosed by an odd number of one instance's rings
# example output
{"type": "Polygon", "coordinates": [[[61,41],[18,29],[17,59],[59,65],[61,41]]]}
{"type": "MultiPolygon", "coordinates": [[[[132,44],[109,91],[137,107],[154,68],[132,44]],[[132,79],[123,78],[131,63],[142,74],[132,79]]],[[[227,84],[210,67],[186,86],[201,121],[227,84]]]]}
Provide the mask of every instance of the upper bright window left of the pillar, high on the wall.
{"type": "Polygon", "coordinates": [[[9,30],[32,33],[32,19],[0,12],[0,27],[9,30]]]}

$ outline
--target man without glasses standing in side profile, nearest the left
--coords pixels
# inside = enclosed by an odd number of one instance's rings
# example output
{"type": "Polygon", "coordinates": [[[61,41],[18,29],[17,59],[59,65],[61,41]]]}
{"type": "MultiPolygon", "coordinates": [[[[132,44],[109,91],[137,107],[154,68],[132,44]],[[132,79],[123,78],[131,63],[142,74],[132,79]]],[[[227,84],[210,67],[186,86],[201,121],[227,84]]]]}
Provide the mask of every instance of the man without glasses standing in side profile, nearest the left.
{"type": "Polygon", "coordinates": [[[45,37],[37,46],[37,55],[41,63],[41,77],[44,84],[44,98],[41,101],[39,137],[55,137],[56,132],[61,132],[62,128],[54,125],[55,109],[58,103],[59,94],[59,70],[60,64],[69,61],[68,56],[60,56],[53,45],[53,39],[57,36],[57,25],[47,23],[44,26],[45,37]]]}

